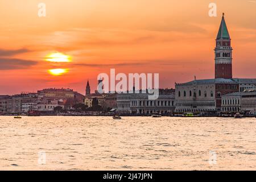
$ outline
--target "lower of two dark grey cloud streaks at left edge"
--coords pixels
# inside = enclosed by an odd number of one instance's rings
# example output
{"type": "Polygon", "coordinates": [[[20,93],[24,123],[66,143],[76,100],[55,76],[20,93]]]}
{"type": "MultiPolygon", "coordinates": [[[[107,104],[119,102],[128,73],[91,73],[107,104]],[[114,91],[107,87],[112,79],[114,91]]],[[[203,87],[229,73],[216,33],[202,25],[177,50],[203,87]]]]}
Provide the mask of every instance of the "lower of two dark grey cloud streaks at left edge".
{"type": "Polygon", "coordinates": [[[36,64],[36,61],[31,60],[0,58],[0,70],[26,69],[36,64]]]}

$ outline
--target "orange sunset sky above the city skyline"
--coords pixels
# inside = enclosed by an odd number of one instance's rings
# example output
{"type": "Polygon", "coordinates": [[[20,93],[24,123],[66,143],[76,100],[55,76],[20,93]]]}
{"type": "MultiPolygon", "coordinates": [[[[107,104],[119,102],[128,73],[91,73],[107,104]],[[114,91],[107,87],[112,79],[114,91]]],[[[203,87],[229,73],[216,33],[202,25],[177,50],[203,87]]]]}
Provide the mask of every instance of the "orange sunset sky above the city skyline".
{"type": "Polygon", "coordinates": [[[233,47],[233,77],[256,78],[256,1],[0,0],[0,94],[96,89],[97,75],[159,73],[160,88],[214,77],[222,13],[233,47]],[[39,3],[46,17],[39,17],[39,3]],[[47,61],[52,53],[69,61],[47,61]],[[65,69],[53,75],[50,69],[65,69]]]}

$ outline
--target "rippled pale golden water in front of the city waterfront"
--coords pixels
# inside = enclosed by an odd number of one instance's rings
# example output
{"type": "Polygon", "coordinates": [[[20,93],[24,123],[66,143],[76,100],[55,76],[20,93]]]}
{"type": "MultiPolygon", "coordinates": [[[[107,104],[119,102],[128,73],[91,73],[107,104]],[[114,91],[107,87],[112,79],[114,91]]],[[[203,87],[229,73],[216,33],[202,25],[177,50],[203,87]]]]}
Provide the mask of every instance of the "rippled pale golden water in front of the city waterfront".
{"type": "Polygon", "coordinates": [[[1,170],[256,169],[256,118],[0,117],[1,170]]]}

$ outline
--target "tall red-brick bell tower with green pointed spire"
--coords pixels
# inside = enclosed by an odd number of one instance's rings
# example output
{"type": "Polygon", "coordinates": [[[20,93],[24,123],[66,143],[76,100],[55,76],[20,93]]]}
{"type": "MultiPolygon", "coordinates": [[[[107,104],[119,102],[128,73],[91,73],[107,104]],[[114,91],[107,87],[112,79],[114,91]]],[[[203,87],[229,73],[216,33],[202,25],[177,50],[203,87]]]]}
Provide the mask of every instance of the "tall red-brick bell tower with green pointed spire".
{"type": "Polygon", "coordinates": [[[215,78],[232,78],[232,47],[224,13],[216,38],[215,78]]]}

